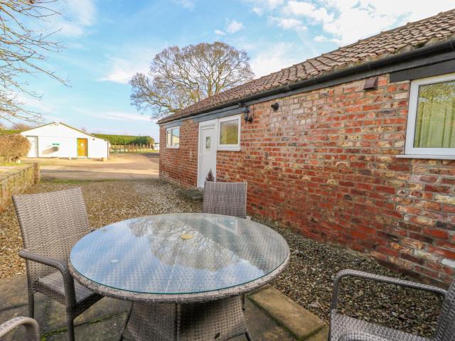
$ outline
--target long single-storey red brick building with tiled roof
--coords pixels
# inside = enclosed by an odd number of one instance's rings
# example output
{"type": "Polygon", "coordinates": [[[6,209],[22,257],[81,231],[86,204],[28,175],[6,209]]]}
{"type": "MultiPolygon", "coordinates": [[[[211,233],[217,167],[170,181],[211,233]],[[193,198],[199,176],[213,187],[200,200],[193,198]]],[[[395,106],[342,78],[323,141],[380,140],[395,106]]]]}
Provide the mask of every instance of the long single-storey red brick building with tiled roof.
{"type": "Polygon", "coordinates": [[[454,33],[440,13],[161,119],[160,177],[247,181],[250,215],[449,283],[454,33]]]}

